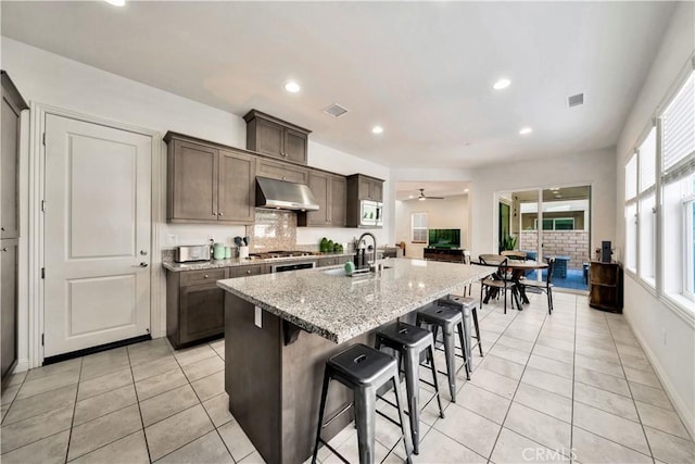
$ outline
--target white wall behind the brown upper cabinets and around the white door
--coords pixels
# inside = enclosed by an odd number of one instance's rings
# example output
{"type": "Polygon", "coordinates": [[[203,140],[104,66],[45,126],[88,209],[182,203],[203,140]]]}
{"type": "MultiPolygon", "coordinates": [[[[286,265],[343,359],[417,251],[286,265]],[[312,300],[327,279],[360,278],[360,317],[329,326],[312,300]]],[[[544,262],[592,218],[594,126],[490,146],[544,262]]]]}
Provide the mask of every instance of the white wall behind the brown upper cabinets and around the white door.
{"type": "MultiPolygon", "coordinates": [[[[143,129],[154,130],[163,137],[167,130],[174,130],[201,139],[206,139],[232,147],[245,148],[245,123],[243,118],[220,111],[192,100],[111,74],[73,60],[65,59],[54,53],[17,42],[5,37],[1,38],[2,68],[12,77],[16,87],[27,102],[46,104],[62,110],[94,116],[116,123],[123,123],[143,129]]],[[[324,167],[341,174],[363,173],[387,180],[389,185],[389,170],[375,163],[365,162],[348,153],[333,150],[320,143],[309,142],[309,165],[324,167]]],[[[28,165],[29,156],[38,159],[38,153],[29,154],[29,149],[22,152],[22,198],[23,217],[28,216],[28,165]]],[[[159,165],[162,183],[154,198],[160,198],[159,204],[153,208],[159,217],[164,218],[165,211],[165,146],[162,143],[162,152],[156,153],[155,166],[159,165]]],[[[389,205],[392,197],[387,197],[386,214],[390,215],[389,205]]],[[[156,216],[156,214],[154,216],[156,216]]],[[[159,229],[159,243],[161,248],[172,248],[175,243],[166,242],[169,235],[178,238],[181,243],[205,242],[208,236],[216,240],[230,241],[233,236],[244,235],[243,226],[217,226],[217,225],[178,225],[166,224],[161,221],[156,224],[159,229]]],[[[389,237],[389,226],[377,233],[377,237],[383,243],[389,237]]],[[[25,228],[26,230],[26,228],[25,228]]],[[[340,241],[358,236],[359,229],[300,229],[298,241],[300,243],[318,243],[320,237],[330,236],[340,241]]],[[[23,239],[26,238],[26,235],[23,239]]],[[[26,273],[27,249],[29,243],[24,243],[24,262],[21,263],[20,288],[26,289],[28,274],[26,273]]],[[[165,293],[164,273],[160,266],[161,250],[153,250],[153,272],[160,287],[160,305],[153,309],[160,311],[160,335],[165,327],[165,293]]],[[[155,289],[156,290],[156,289],[155,289]]],[[[26,290],[25,290],[26,291],[26,290]]],[[[26,363],[28,356],[28,322],[27,314],[35,311],[29,308],[26,294],[21,294],[20,306],[20,361],[26,363]]],[[[153,335],[157,335],[157,327],[152,327],[153,335]]]]}

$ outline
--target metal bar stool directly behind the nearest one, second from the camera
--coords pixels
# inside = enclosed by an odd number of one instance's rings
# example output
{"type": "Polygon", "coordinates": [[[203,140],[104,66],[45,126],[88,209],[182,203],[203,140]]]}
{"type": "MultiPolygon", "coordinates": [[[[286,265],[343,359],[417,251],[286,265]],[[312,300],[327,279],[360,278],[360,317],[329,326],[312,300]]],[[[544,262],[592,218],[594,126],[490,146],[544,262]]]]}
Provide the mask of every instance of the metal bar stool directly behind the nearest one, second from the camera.
{"type": "Polygon", "coordinates": [[[437,381],[437,369],[434,368],[434,338],[432,333],[416,327],[410,324],[397,322],[381,326],[377,330],[377,350],[388,347],[395,350],[401,360],[405,362],[405,391],[408,402],[408,416],[410,419],[410,434],[413,435],[413,452],[420,451],[420,405],[419,405],[419,381],[434,387],[434,396],[425,404],[425,407],[437,397],[439,404],[439,416],[444,418],[442,410],[442,399],[439,394],[439,384],[437,381]],[[427,353],[432,371],[433,384],[420,379],[420,354],[427,353]]]}

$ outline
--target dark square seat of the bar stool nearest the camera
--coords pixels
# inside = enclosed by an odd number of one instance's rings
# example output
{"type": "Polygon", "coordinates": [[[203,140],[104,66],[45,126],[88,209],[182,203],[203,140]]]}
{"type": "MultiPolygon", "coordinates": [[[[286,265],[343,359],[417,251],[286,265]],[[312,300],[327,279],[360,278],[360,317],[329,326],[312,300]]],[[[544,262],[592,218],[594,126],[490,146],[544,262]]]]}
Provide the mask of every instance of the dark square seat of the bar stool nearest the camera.
{"type": "Polygon", "coordinates": [[[395,358],[362,343],[331,356],[328,365],[349,381],[363,386],[383,381],[396,368],[395,358]]]}

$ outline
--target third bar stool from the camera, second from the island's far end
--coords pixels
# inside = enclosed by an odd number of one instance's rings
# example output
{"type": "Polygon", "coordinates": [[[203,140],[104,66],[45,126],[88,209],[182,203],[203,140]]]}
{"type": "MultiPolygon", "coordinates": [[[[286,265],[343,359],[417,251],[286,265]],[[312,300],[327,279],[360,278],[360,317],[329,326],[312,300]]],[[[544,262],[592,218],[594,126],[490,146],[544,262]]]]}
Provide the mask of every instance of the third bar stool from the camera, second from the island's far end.
{"type": "Polygon", "coordinates": [[[464,316],[460,310],[440,304],[425,308],[417,313],[417,325],[428,324],[432,326],[434,340],[439,329],[442,329],[442,339],[444,341],[444,359],[446,360],[446,376],[448,378],[448,391],[452,396],[452,402],[456,402],[456,342],[454,335],[458,331],[458,340],[460,342],[462,358],[466,367],[466,378],[470,380],[470,367],[468,362],[468,349],[466,348],[466,339],[464,338],[464,316]]]}

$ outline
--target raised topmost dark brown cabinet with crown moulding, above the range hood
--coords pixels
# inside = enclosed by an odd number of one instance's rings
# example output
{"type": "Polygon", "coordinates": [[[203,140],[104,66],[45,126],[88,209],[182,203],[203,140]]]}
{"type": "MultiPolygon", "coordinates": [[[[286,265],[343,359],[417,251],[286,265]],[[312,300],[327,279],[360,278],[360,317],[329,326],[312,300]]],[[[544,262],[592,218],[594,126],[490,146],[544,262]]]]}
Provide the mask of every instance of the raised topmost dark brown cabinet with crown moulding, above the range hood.
{"type": "Polygon", "coordinates": [[[306,164],[311,130],[256,110],[251,110],[243,118],[247,122],[248,150],[306,164]]]}

